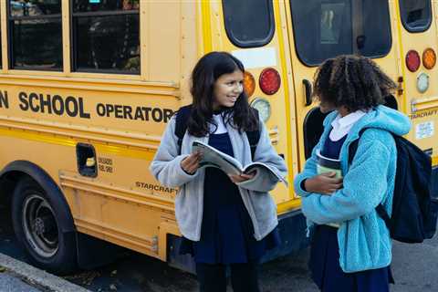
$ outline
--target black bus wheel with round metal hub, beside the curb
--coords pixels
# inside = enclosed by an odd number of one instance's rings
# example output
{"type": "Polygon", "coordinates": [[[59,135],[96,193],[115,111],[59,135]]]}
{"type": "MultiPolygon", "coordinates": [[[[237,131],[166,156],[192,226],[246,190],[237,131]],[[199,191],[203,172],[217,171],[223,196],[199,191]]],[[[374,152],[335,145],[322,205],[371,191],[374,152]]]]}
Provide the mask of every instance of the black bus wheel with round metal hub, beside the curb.
{"type": "Polygon", "coordinates": [[[76,238],[61,231],[58,219],[47,193],[35,181],[26,178],[17,184],[12,199],[17,240],[36,266],[68,274],[77,266],[76,238]]]}

